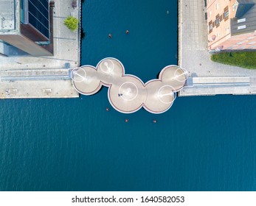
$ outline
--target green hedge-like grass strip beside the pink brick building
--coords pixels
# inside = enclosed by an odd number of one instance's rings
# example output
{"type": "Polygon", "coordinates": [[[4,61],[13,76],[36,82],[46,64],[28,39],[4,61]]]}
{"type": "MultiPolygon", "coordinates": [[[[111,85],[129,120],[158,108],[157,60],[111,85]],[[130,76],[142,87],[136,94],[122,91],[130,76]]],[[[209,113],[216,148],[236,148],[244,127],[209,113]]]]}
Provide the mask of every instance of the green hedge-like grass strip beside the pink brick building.
{"type": "Polygon", "coordinates": [[[256,51],[238,51],[212,54],[211,60],[226,65],[256,69],[256,51]]]}

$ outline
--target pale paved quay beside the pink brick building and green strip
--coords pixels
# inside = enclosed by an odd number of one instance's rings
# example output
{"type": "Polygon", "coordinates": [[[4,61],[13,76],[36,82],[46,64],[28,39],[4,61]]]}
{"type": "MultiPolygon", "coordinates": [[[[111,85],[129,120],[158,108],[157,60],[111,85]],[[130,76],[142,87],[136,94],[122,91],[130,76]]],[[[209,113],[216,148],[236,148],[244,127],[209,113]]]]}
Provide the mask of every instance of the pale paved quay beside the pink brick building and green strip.
{"type": "Polygon", "coordinates": [[[256,94],[256,71],[210,60],[203,0],[179,0],[179,66],[189,71],[179,96],[256,94]]]}

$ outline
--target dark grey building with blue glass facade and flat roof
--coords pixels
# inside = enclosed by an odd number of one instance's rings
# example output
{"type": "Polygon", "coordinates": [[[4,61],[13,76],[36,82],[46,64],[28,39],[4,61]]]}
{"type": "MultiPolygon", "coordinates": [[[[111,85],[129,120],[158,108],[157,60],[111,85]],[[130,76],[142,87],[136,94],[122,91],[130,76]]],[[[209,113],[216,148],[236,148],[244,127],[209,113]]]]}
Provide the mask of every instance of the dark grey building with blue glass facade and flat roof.
{"type": "Polygon", "coordinates": [[[49,0],[0,0],[0,54],[51,56],[49,0]]]}

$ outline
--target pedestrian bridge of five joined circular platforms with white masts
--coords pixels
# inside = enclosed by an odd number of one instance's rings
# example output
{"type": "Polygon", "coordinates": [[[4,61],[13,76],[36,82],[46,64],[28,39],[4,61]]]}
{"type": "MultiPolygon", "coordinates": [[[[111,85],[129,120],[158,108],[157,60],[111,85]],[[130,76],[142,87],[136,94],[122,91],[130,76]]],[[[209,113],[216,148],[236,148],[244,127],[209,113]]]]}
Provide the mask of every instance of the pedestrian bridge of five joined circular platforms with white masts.
{"type": "Polygon", "coordinates": [[[144,107],[150,113],[164,113],[184,87],[188,73],[177,65],[167,65],[159,79],[146,83],[138,77],[125,74],[122,63],[115,58],[105,58],[97,64],[73,68],[73,85],[78,93],[91,95],[104,85],[108,87],[108,100],[121,113],[134,113],[144,107]]]}

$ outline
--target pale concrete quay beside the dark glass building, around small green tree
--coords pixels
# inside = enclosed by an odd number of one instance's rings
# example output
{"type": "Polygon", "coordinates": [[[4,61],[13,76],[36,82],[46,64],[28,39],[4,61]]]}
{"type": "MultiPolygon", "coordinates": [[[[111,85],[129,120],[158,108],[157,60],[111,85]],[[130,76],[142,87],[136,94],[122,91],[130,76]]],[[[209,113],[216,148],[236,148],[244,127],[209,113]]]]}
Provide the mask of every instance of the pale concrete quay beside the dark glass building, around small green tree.
{"type": "Polygon", "coordinates": [[[80,28],[70,31],[63,25],[68,15],[80,19],[81,1],[55,1],[53,8],[54,56],[1,57],[0,99],[75,98],[69,69],[80,66],[80,28]]]}

